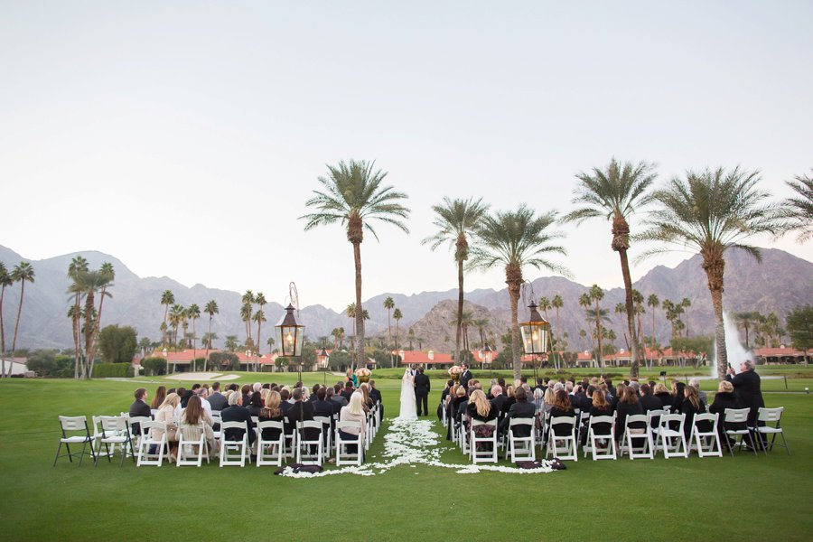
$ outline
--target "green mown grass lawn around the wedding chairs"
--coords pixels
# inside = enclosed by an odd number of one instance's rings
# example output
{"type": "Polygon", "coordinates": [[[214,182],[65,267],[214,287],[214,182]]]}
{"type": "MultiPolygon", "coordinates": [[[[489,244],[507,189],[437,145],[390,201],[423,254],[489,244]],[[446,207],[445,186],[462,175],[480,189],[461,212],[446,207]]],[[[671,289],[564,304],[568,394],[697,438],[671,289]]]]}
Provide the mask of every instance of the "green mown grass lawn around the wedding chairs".
{"type": "MultiPolygon", "coordinates": [[[[243,377],[237,381],[258,379],[243,377]]],[[[304,381],[321,382],[322,375],[304,381]]],[[[385,416],[396,416],[399,383],[377,381],[385,416]]],[[[137,386],[0,381],[2,539],[583,540],[593,530],[619,540],[813,537],[808,395],[765,394],[768,406],[785,406],[790,456],[778,449],[767,458],[580,460],[567,462],[565,472],[533,475],[458,474],[418,465],[313,480],[275,476],[274,467],[254,465],[159,469],[126,463],[119,469],[117,463],[94,468],[88,462],[78,468],[61,460],[51,467],[58,415],[117,414],[137,386]]],[[[155,386],[145,385],[151,393],[155,386]]],[[[438,397],[434,389],[430,405],[438,397]]],[[[371,448],[373,461],[386,431],[387,424],[371,448]]],[[[443,460],[466,463],[453,448],[443,460]]]]}

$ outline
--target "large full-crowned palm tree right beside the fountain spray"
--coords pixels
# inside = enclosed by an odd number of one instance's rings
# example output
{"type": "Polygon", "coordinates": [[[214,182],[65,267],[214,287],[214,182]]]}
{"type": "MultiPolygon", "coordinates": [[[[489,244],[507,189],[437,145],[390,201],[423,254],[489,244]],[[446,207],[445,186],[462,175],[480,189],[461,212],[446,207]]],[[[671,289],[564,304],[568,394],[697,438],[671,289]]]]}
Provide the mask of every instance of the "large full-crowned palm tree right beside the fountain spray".
{"type": "Polygon", "coordinates": [[[717,375],[724,378],[728,368],[723,325],[724,253],[742,248],[762,261],[759,248],[744,244],[754,234],[776,233],[781,227],[777,206],[769,194],[757,189],[759,173],[738,167],[701,173],[688,172],[667,188],[655,193],[659,210],[649,217],[649,229],[641,238],[661,243],[641,257],[649,257],[673,247],[691,248],[703,257],[703,269],[715,312],[717,375]]]}

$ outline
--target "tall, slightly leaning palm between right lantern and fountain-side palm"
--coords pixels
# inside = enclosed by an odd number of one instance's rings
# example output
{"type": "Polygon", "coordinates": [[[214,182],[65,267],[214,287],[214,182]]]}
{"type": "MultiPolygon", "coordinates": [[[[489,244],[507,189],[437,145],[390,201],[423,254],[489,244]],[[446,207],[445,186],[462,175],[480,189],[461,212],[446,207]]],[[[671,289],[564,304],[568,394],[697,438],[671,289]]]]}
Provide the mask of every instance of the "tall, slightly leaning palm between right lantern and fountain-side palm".
{"type": "MultiPolygon", "coordinates": [[[[604,170],[596,167],[593,168],[592,174],[584,172],[577,174],[579,184],[574,190],[573,203],[580,207],[563,218],[563,221],[576,224],[593,218],[612,220],[611,247],[612,250],[618,252],[621,258],[621,275],[624,279],[626,294],[627,329],[630,332],[632,343],[630,376],[633,378],[638,377],[640,356],[635,316],[632,312],[630,262],[627,257],[627,250],[630,249],[629,220],[636,210],[652,201],[652,196],[648,191],[657,176],[654,170],[654,164],[646,162],[621,164],[612,158],[604,170]]],[[[601,342],[601,334],[599,334],[599,342],[601,342]]],[[[601,353],[601,346],[599,346],[599,355],[601,353]]]]}

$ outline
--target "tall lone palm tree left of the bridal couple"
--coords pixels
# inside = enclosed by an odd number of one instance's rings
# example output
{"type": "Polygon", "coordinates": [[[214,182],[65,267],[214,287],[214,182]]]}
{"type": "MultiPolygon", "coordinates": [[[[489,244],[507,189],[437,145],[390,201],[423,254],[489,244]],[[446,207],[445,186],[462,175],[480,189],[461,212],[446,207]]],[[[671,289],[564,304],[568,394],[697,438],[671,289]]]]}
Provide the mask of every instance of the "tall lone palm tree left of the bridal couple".
{"type": "MultiPolygon", "coordinates": [[[[316,212],[304,215],[305,231],[317,226],[339,223],[347,228],[347,240],[353,246],[353,263],[356,268],[356,333],[360,335],[360,344],[364,344],[364,321],[361,312],[361,242],[364,230],[378,239],[373,220],[392,224],[409,233],[401,219],[409,216],[409,210],[401,204],[406,194],[396,192],[392,186],[382,186],[381,182],[387,173],[373,171],[374,163],[350,160],[340,162],[338,166],[328,165],[328,176],[319,177],[322,191],[313,191],[314,195],[305,205],[316,212]]],[[[355,352],[356,361],[364,360],[363,348],[355,352]]]]}

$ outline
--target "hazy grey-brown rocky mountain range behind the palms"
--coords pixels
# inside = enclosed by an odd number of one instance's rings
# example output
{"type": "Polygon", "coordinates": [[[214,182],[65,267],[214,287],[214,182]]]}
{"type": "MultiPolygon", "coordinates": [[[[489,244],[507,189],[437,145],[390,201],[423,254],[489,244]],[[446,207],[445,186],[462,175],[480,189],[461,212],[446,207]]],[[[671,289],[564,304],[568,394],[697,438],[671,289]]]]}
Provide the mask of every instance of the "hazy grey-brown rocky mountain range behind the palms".
{"type": "MultiPolygon", "coordinates": [[[[110,262],[116,270],[115,285],[111,289],[113,297],[105,303],[102,325],[118,323],[131,325],[139,337],[160,339],[160,325],[164,320],[164,306],[160,304],[164,290],[171,290],[175,302],[188,306],[198,304],[201,309],[210,299],[217,301],[220,314],[212,320],[212,332],[217,333],[219,340],[215,346],[222,345],[227,335],[237,335],[244,340],[245,323],[240,321],[240,297],[238,292],[208,288],[204,285],[187,287],[172,278],[140,277],[130,271],[124,262],[116,257],[96,251],[66,254],[42,260],[27,260],[10,248],[0,246],[0,261],[11,271],[21,260],[31,261],[35,271],[35,281],[25,287],[25,301],[20,319],[17,345],[20,348],[70,348],[72,346],[70,321],[67,311],[70,306],[67,294],[69,279],[68,266],[73,257],[81,255],[88,259],[91,268],[98,268],[103,262],[110,262]]],[[[612,260],[612,265],[615,265],[612,260]]],[[[633,286],[644,297],[657,294],[660,300],[671,299],[679,302],[688,298],[691,306],[687,309],[684,321],[689,332],[694,334],[711,334],[714,330],[711,299],[706,285],[706,274],[700,266],[701,257],[695,255],[681,262],[674,268],[656,266],[652,268],[633,286]]],[[[351,286],[351,285],[350,285],[351,286]]],[[[586,345],[579,344],[579,330],[588,329],[584,318],[584,309],[578,305],[578,298],[589,290],[588,285],[580,285],[561,276],[540,276],[533,280],[532,290],[537,296],[562,296],[565,306],[559,311],[558,321],[555,312],[548,312],[548,320],[560,331],[570,337],[570,350],[581,350],[586,345]]],[[[349,287],[351,290],[351,287],[349,287]]],[[[14,333],[14,317],[19,303],[18,285],[6,288],[4,300],[4,324],[6,344],[10,344],[14,333]]],[[[399,322],[401,345],[405,345],[407,331],[413,328],[414,337],[422,339],[424,349],[433,348],[449,351],[453,348],[453,320],[455,304],[450,300],[457,299],[457,289],[444,292],[422,292],[421,294],[384,293],[370,297],[363,302],[369,311],[367,322],[368,336],[386,335],[388,312],[384,300],[392,297],[404,318],[399,322]],[[451,339],[446,340],[447,336],[451,339]]],[[[490,325],[488,334],[498,335],[508,326],[509,296],[507,289],[478,289],[465,294],[468,307],[474,311],[475,318],[487,318],[490,325]]],[[[618,344],[623,344],[625,329],[621,314],[613,313],[616,304],[623,303],[623,288],[606,290],[602,307],[610,309],[612,323],[609,327],[618,334],[618,344]]],[[[528,302],[529,303],[529,300],[528,302]]],[[[795,257],[788,252],[774,249],[762,249],[762,264],[750,255],[730,250],[726,253],[724,306],[728,312],[760,311],[763,314],[777,313],[780,322],[793,307],[802,304],[813,304],[813,263],[795,257]]],[[[647,307],[643,316],[644,332],[651,334],[652,315],[647,307]]],[[[263,326],[263,338],[272,336],[273,326],[285,312],[282,305],[271,303],[265,307],[267,322],[263,326]]],[[[527,314],[520,307],[520,318],[527,314]]],[[[309,337],[316,339],[327,336],[333,328],[344,327],[350,335],[352,322],[346,315],[336,313],[322,305],[310,305],[302,308],[300,318],[306,326],[309,337]]],[[[197,335],[200,337],[208,329],[209,318],[201,315],[197,322],[197,335]]],[[[256,324],[253,334],[256,334],[256,324]]],[[[395,333],[395,322],[392,322],[395,333]]],[[[190,327],[190,332],[192,327],[190,327]]],[[[556,331],[556,330],[555,330],[556,331]]],[[[665,343],[670,335],[670,327],[664,318],[663,311],[655,313],[655,331],[659,341],[665,343]]],[[[477,330],[470,331],[470,339],[479,341],[477,330]]],[[[414,346],[418,346],[415,344],[414,346]]],[[[264,344],[264,347],[267,346],[264,344]]],[[[264,350],[265,350],[264,348],[264,350]]]]}

